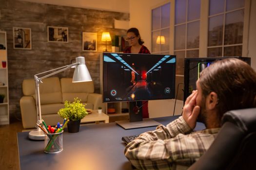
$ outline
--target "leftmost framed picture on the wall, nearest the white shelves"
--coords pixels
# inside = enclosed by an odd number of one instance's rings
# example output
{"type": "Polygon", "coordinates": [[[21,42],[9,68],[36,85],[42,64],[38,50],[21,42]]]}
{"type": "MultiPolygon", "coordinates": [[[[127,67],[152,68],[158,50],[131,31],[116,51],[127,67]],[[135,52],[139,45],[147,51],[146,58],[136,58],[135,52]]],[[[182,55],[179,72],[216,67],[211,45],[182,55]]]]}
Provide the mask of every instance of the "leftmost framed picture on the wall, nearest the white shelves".
{"type": "Polygon", "coordinates": [[[13,27],[13,48],[22,50],[31,50],[31,29],[13,27]]]}

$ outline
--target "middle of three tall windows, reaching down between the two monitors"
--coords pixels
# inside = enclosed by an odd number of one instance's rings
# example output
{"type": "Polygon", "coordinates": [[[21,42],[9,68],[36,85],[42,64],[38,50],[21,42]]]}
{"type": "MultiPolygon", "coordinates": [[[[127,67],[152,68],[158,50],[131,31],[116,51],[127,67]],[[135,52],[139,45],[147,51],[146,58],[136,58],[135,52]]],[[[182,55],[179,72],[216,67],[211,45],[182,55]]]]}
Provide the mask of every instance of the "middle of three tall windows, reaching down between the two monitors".
{"type": "MultiPolygon", "coordinates": [[[[175,1],[176,89],[184,81],[184,58],[199,57],[200,0],[175,1]]],[[[180,88],[180,87],[179,87],[180,88]]],[[[179,89],[177,99],[183,100],[179,89]]]]}

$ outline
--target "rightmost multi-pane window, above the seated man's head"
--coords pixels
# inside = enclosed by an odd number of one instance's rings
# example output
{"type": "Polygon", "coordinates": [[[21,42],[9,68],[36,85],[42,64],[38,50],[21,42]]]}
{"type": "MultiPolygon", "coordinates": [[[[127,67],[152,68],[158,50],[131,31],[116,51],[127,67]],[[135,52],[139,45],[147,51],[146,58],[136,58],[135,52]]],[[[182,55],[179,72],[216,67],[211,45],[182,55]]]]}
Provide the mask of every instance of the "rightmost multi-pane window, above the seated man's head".
{"type": "Polygon", "coordinates": [[[208,57],[242,56],[244,0],[210,0],[208,57]]]}

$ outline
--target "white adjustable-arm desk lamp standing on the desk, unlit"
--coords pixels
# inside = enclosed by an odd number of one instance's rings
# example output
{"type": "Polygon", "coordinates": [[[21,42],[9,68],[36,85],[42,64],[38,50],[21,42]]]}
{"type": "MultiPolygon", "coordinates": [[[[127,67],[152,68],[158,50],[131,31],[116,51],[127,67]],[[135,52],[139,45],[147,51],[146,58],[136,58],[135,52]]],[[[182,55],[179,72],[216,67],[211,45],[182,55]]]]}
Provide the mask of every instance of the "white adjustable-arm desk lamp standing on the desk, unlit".
{"type": "MultiPolygon", "coordinates": [[[[38,115],[38,121],[37,124],[41,124],[42,123],[42,118],[41,118],[41,106],[40,106],[40,95],[39,95],[39,84],[42,83],[42,79],[50,77],[54,74],[57,74],[61,71],[64,71],[66,69],[69,68],[75,68],[74,71],[74,75],[73,75],[73,83],[76,82],[89,82],[92,81],[92,78],[90,76],[90,73],[85,65],[85,59],[84,57],[77,57],[76,58],[76,63],[67,65],[67,66],[63,66],[60,68],[55,68],[55,69],[51,69],[49,71],[45,71],[45,72],[41,72],[39,74],[34,75],[35,78],[35,83],[36,83],[36,103],[37,103],[37,115],[38,115]],[[53,72],[54,71],[54,72],[53,72]],[[46,74],[49,73],[47,75],[44,75],[42,77],[39,77],[39,75],[41,74],[46,74]]],[[[37,130],[34,131],[30,131],[28,134],[28,137],[30,139],[33,140],[43,140],[44,139],[44,133],[43,131],[37,126],[37,130]]]]}

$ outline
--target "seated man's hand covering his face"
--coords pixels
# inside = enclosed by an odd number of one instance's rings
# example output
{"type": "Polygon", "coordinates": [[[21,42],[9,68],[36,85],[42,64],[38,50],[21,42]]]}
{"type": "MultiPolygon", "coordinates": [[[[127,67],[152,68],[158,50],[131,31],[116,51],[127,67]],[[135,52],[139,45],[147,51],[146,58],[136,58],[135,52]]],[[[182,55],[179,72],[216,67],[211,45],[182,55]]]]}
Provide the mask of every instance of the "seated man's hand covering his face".
{"type": "Polygon", "coordinates": [[[200,107],[196,105],[197,93],[197,90],[193,91],[192,94],[186,99],[183,107],[182,117],[191,129],[196,127],[197,117],[200,113],[200,107]]]}

